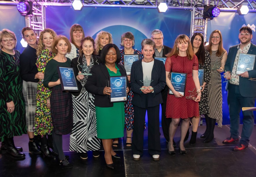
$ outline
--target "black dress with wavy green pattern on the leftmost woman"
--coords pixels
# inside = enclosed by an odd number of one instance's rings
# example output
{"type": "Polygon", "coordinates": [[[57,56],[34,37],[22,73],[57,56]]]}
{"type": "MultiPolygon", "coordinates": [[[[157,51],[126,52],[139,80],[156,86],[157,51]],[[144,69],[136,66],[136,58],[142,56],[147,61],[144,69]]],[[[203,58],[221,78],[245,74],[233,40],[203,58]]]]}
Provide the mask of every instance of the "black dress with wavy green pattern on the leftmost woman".
{"type": "Polygon", "coordinates": [[[0,141],[27,133],[25,103],[22,94],[19,56],[0,51],[0,141]],[[6,103],[14,102],[14,111],[7,111],[6,103]]]}

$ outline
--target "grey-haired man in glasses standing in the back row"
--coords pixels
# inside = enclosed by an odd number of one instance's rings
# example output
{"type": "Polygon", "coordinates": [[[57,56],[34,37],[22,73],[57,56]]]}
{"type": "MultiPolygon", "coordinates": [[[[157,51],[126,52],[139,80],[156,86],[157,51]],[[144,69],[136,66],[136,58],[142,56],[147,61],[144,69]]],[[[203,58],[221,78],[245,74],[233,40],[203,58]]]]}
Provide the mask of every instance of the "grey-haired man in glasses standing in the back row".
{"type": "MultiPolygon", "coordinates": [[[[167,47],[164,45],[164,35],[162,31],[159,29],[155,29],[151,33],[151,39],[155,42],[155,53],[153,57],[165,57],[167,53],[169,53],[172,48],[167,47]]],[[[168,95],[168,86],[166,85],[164,89],[161,91],[163,103],[161,104],[162,107],[162,129],[164,133],[164,137],[166,139],[166,142],[169,141],[169,125],[172,119],[166,119],[166,101],[167,101],[167,95],[168,95]]],[[[173,142],[173,146],[175,147],[176,144],[173,142]]]]}

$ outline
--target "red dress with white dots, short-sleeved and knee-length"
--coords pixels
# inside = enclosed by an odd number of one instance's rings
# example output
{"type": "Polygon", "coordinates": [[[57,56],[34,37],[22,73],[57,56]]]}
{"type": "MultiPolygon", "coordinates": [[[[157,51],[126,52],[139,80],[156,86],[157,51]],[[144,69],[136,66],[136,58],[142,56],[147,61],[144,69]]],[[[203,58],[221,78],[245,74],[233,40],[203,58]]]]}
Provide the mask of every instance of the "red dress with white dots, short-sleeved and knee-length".
{"type": "Polygon", "coordinates": [[[189,60],[188,57],[172,55],[166,59],[165,70],[167,72],[187,73],[185,95],[181,98],[176,98],[172,94],[168,94],[167,96],[166,118],[186,119],[199,117],[199,103],[186,99],[186,96],[190,96],[188,91],[196,88],[192,77],[192,70],[198,70],[198,59],[196,55],[193,56],[192,60],[189,60]]]}

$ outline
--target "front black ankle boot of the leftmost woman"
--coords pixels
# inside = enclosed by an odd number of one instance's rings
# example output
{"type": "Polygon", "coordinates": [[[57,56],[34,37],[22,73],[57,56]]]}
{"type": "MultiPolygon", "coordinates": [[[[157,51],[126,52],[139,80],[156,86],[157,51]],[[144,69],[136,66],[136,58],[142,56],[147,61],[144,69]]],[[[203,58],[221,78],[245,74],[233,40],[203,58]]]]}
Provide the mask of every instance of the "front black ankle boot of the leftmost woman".
{"type": "Polygon", "coordinates": [[[16,147],[14,146],[13,137],[11,137],[11,138],[5,137],[5,143],[7,146],[6,152],[10,157],[12,157],[14,159],[24,159],[25,158],[25,154],[18,151],[16,149],[16,147]]]}

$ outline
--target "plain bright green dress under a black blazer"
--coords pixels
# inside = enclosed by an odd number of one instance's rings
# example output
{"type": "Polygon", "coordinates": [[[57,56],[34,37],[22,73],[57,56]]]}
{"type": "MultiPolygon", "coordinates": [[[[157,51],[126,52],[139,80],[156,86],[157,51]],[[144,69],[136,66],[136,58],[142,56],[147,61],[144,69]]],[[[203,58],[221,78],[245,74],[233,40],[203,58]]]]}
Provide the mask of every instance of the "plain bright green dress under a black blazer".
{"type": "MultiPolygon", "coordinates": [[[[108,68],[110,76],[121,76],[119,68],[114,73],[108,68]]],[[[124,136],[125,102],[114,103],[113,107],[95,107],[97,119],[97,136],[100,139],[113,139],[124,136]]]]}

